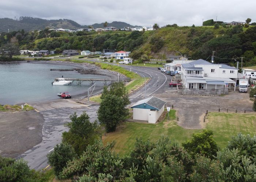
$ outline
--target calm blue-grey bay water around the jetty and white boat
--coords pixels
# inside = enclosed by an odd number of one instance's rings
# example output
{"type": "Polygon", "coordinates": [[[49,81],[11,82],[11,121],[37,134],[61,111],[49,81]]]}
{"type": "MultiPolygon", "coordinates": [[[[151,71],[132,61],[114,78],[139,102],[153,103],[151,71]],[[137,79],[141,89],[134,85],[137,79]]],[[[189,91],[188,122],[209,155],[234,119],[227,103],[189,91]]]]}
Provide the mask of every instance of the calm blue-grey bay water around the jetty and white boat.
{"type": "MultiPolygon", "coordinates": [[[[90,87],[89,82],[77,85],[52,85],[55,78],[98,78],[101,75],[82,75],[76,71],[50,71],[50,69],[70,69],[72,66],[49,64],[0,64],[0,104],[17,104],[37,100],[58,99],[60,92],[68,91],[71,95],[82,94],[90,87]]],[[[103,87],[97,82],[96,87],[103,87]]],[[[96,89],[96,88],[95,88],[96,89]]]]}

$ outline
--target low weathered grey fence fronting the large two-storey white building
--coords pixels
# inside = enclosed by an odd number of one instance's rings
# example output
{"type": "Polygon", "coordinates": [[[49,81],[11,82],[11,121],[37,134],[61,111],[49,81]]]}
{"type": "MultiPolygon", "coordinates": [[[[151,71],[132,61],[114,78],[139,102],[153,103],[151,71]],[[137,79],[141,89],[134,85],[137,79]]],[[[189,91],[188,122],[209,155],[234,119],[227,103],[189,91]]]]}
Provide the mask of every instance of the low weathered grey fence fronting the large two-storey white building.
{"type": "Polygon", "coordinates": [[[199,89],[199,88],[183,88],[183,95],[204,95],[204,96],[213,96],[213,95],[221,95],[228,94],[229,91],[227,88],[220,89],[199,89]]]}

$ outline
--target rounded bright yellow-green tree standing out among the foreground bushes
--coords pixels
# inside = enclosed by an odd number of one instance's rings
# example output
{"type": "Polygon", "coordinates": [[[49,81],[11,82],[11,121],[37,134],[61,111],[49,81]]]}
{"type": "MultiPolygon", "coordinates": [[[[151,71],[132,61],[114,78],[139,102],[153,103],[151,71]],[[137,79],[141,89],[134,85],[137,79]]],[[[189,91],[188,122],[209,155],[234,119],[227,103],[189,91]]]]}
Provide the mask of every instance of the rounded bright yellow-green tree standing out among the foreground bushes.
{"type": "Polygon", "coordinates": [[[217,155],[219,148],[212,138],[212,135],[213,132],[211,130],[203,130],[201,133],[194,133],[192,139],[182,143],[182,146],[193,157],[195,157],[196,154],[200,154],[213,159],[214,156],[217,155]]]}

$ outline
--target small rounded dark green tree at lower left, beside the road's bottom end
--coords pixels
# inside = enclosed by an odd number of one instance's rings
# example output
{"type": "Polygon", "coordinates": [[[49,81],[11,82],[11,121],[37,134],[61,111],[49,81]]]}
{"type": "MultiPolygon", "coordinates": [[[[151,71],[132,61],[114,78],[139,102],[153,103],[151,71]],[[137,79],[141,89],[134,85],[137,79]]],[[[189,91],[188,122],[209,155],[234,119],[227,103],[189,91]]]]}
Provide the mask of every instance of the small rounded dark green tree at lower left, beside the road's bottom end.
{"type": "Polygon", "coordinates": [[[54,167],[54,173],[59,178],[62,169],[67,166],[67,162],[76,157],[74,148],[65,143],[56,145],[54,151],[47,154],[49,164],[54,167]]]}

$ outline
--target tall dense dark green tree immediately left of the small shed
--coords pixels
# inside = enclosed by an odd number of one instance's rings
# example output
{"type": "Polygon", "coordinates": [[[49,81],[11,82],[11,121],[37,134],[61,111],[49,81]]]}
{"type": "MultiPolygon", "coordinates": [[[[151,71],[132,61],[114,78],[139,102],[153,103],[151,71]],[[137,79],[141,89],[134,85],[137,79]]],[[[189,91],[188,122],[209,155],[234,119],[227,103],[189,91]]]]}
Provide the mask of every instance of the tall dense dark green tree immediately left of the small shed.
{"type": "Polygon", "coordinates": [[[99,123],[105,126],[106,132],[116,130],[118,124],[128,116],[128,108],[125,108],[125,102],[116,95],[106,95],[101,102],[98,110],[99,123]]]}

